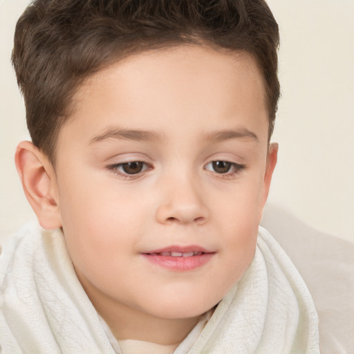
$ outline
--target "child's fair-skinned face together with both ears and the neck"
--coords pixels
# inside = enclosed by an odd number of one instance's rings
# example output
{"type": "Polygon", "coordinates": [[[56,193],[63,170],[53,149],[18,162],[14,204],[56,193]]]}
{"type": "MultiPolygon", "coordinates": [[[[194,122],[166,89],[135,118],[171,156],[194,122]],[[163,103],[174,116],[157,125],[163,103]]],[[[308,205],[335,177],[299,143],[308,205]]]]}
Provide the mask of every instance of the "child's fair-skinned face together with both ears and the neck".
{"type": "Polygon", "coordinates": [[[55,169],[19,145],[26,196],[118,339],[178,343],[254,257],[277,161],[261,75],[245,53],[180,46],[106,68],[74,102],[55,169]]]}

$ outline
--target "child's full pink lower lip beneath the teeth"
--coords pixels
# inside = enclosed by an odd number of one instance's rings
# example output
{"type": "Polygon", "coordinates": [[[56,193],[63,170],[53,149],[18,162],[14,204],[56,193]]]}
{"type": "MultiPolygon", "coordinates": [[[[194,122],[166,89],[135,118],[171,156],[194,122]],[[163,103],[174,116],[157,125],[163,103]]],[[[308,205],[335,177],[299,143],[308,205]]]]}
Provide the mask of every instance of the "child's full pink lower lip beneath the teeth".
{"type": "Polygon", "coordinates": [[[162,268],[186,272],[187,270],[201,268],[212,259],[214,254],[215,253],[203,253],[192,257],[159,256],[146,253],[142,255],[147,261],[160,265],[162,268]]]}

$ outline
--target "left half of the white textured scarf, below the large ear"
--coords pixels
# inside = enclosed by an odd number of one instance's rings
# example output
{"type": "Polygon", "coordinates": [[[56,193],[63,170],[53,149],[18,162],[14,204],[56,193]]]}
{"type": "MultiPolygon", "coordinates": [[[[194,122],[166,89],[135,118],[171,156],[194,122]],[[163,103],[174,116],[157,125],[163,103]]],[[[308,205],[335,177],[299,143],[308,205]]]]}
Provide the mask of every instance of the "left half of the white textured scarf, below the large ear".
{"type": "Polygon", "coordinates": [[[59,230],[8,239],[0,289],[1,354],[114,354],[59,230]]]}

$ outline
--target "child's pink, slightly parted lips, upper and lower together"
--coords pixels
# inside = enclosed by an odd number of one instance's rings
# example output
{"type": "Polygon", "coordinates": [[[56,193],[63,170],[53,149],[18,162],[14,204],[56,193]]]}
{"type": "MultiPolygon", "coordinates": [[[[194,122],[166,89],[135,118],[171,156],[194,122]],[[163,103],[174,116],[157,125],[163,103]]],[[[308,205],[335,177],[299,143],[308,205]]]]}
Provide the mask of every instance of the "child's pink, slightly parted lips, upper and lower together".
{"type": "Polygon", "coordinates": [[[206,250],[198,245],[171,245],[158,250],[151,250],[141,253],[149,263],[158,265],[167,270],[186,272],[201,268],[208,263],[215,255],[215,252],[206,250]],[[166,253],[179,253],[178,257],[166,255],[166,253]],[[191,255],[193,253],[193,255],[191,255]]]}

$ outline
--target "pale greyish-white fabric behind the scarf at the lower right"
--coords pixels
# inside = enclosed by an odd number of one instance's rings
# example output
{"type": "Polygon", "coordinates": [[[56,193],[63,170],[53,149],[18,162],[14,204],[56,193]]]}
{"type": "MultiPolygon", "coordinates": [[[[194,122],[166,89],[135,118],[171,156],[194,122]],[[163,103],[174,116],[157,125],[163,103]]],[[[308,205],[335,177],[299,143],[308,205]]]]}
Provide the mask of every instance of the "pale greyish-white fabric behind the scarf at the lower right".
{"type": "Polygon", "coordinates": [[[354,353],[354,243],[324,234],[279,207],[268,207],[262,225],[304,279],[319,317],[322,354],[354,353]]]}

